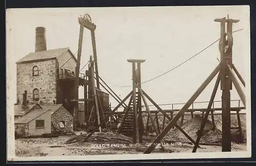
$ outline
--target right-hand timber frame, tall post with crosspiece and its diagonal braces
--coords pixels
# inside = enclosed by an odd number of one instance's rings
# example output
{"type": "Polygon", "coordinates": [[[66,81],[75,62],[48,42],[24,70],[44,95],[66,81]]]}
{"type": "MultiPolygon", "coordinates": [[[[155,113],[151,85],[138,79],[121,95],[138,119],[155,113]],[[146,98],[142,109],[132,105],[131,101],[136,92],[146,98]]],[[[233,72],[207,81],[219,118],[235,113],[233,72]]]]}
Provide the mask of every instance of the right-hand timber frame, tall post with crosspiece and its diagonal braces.
{"type": "MultiPolygon", "coordinates": [[[[212,79],[219,73],[217,81],[214,86],[214,90],[212,91],[210,102],[207,107],[206,114],[204,115],[204,120],[201,124],[201,129],[199,135],[196,140],[196,144],[194,146],[193,152],[196,152],[197,147],[199,145],[200,138],[203,133],[203,129],[207,120],[207,117],[210,112],[210,108],[214,101],[219,83],[221,83],[221,90],[222,90],[222,151],[223,152],[230,152],[231,151],[231,133],[230,133],[230,90],[231,90],[231,83],[234,84],[234,87],[238,91],[238,94],[242,100],[244,106],[245,103],[245,95],[240,87],[235,74],[233,73],[232,67],[232,23],[236,23],[239,20],[229,19],[229,18],[222,18],[222,19],[215,19],[216,22],[221,22],[221,38],[220,38],[220,53],[221,53],[221,62],[220,64],[212,71],[212,73],[208,76],[208,78],[203,82],[203,84],[198,88],[198,90],[193,94],[193,96],[187,101],[187,103],[180,109],[180,111],[176,114],[172,121],[170,121],[167,126],[162,130],[162,132],[156,137],[153,141],[153,144],[148,147],[144,154],[151,153],[155,149],[155,143],[160,143],[160,140],[168,133],[168,131],[176,125],[179,118],[184,115],[185,111],[189,108],[189,106],[197,99],[200,93],[206,88],[206,86],[211,82],[212,79]],[[225,27],[227,23],[227,32],[225,32],[225,27]],[[227,39],[226,39],[227,37],[227,39]]],[[[235,70],[235,73],[238,74],[238,71],[235,70]]],[[[239,75],[240,76],[240,75],[239,75]]],[[[245,86],[245,82],[242,80],[242,77],[239,77],[243,85],[245,86]]],[[[239,113],[239,112],[238,112],[239,113]]],[[[240,123],[240,122],[239,122],[240,123]]],[[[240,124],[241,125],[241,124],[240,124]]]]}

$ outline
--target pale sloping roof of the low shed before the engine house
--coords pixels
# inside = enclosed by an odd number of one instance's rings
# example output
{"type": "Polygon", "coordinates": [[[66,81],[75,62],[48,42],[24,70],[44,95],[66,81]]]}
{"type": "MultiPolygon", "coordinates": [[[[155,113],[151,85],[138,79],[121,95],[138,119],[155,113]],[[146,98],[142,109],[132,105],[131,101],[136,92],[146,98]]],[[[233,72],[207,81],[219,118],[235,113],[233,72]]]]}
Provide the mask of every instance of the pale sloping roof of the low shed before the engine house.
{"type": "Polygon", "coordinates": [[[17,118],[15,120],[15,124],[28,124],[29,122],[33,121],[38,116],[40,116],[48,111],[55,112],[62,105],[55,104],[55,105],[40,105],[40,106],[42,107],[41,109],[34,109],[34,110],[30,111],[29,113],[27,113],[26,115],[24,115],[20,118],[17,118]]]}

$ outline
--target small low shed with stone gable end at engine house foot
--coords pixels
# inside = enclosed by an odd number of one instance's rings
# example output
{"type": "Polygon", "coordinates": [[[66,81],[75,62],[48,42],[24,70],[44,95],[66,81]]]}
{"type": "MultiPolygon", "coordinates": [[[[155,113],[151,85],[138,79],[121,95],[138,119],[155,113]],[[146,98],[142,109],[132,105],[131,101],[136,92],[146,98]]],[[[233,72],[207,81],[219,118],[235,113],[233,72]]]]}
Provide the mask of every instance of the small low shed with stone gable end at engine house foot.
{"type": "Polygon", "coordinates": [[[40,105],[15,120],[15,134],[72,133],[73,116],[62,105],[40,105]]]}

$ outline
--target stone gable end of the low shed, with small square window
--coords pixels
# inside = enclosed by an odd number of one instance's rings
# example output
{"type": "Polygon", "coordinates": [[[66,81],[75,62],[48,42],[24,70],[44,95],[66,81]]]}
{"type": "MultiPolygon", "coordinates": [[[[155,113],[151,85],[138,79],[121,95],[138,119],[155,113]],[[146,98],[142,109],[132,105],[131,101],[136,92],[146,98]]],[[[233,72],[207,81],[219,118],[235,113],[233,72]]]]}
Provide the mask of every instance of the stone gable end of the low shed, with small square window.
{"type": "Polygon", "coordinates": [[[73,133],[73,116],[61,106],[51,115],[52,133],[73,133]],[[60,127],[60,121],[65,121],[65,128],[60,127]]]}

